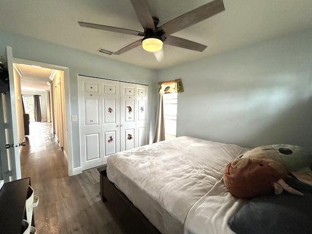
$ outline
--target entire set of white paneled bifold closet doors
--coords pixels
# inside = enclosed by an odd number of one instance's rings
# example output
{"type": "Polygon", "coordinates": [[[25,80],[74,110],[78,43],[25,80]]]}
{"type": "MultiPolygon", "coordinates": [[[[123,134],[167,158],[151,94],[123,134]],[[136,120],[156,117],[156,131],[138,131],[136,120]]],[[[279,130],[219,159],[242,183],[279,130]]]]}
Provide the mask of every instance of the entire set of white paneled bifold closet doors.
{"type": "Polygon", "coordinates": [[[78,76],[82,170],[119,151],[148,144],[148,90],[116,80],[78,76]]]}

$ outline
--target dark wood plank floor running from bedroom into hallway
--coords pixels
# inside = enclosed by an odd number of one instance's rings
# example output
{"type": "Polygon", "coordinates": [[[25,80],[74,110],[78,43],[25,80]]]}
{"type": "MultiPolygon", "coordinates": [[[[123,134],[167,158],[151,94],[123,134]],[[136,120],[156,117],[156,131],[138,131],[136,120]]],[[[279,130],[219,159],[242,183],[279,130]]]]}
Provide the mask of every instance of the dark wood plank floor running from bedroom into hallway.
{"type": "Polygon", "coordinates": [[[51,123],[30,123],[20,164],[22,177],[31,178],[39,196],[34,208],[38,234],[126,234],[100,199],[96,168],[67,175],[67,161],[51,123]]]}

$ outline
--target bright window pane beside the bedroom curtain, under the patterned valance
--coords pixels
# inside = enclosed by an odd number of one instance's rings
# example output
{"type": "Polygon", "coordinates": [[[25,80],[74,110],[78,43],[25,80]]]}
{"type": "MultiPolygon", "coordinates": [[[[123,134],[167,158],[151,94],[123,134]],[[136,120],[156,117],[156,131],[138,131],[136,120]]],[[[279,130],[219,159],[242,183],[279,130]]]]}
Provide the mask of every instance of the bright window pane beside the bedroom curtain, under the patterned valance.
{"type": "Polygon", "coordinates": [[[163,94],[165,138],[176,138],[177,93],[163,94]]]}

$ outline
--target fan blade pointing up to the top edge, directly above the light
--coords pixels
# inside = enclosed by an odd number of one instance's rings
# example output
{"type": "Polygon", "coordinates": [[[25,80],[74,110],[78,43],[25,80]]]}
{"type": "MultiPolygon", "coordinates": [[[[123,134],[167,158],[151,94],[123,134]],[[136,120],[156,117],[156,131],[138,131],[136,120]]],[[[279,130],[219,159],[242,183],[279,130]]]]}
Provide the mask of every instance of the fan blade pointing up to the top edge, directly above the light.
{"type": "Polygon", "coordinates": [[[140,20],[144,31],[147,28],[151,28],[155,32],[155,24],[147,0],[131,0],[131,3],[133,8],[135,8],[137,18],[140,20]]]}

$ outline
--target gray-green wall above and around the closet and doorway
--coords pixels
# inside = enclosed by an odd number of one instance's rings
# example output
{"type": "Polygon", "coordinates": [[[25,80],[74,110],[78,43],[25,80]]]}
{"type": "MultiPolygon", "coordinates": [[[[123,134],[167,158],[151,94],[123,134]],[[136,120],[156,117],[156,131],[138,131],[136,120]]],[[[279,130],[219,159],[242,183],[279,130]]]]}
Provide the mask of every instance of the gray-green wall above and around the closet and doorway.
{"type": "MultiPolygon", "coordinates": [[[[0,38],[0,55],[5,55],[5,46],[11,46],[14,58],[69,67],[71,113],[67,114],[70,115],[78,115],[78,74],[149,85],[150,140],[153,140],[157,103],[155,71],[6,31],[0,30],[0,38]]],[[[72,122],[73,168],[81,166],[79,148],[77,121],[72,122]]]]}

